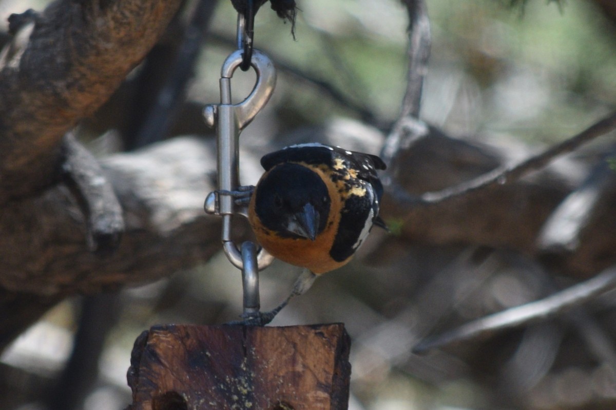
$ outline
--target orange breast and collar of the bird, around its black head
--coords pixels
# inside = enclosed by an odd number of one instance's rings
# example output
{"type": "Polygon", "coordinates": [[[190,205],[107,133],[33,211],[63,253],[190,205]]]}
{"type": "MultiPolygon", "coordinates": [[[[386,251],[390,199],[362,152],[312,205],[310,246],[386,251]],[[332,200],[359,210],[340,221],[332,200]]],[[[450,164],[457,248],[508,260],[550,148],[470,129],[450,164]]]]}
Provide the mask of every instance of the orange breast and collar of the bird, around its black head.
{"type": "MultiPolygon", "coordinates": [[[[310,167],[312,171],[317,172],[322,177],[327,185],[331,199],[331,211],[327,221],[325,230],[317,235],[317,238],[312,241],[304,238],[285,238],[280,237],[274,231],[270,231],[261,224],[254,212],[254,201],[256,193],[251,198],[249,206],[248,221],[253,227],[257,242],[275,258],[285,261],[295,266],[302,266],[309,269],[315,274],[323,274],[330,270],[343,266],[351,260],[347,258],[344,261],[337,262],[331,259],[330,249],[334,243],[338,225],[340,223],[341,197],[336,188],[336,185],[331,181],[329,176],[323,174],[322,170],[310,167]]],[[[264,176],[267,173],[264,174],[264,176]]],[[[261,178],[264,178],[262,176],[261,178]]]]}

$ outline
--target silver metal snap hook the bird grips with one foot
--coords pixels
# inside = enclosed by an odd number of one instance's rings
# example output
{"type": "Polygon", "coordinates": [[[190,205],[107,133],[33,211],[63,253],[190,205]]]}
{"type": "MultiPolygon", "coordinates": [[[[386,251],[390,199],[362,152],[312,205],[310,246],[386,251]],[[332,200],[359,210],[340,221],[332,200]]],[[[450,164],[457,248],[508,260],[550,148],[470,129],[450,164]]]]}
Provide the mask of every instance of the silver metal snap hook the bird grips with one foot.
{"type": "MultiPolygon", "coordinates": [[[[241,251],[231,239],[231,221],[233,215],[246,216],[246,209],[236,205],[232,195],[223,192],[237,191],[240,187],[240,133],[269,101],[276,84],[274,63],[264,53],[253,50],[251,66],[257,74],[256,84],[244,101],[232,104],[231,78],[242,60],[242,50],[236,50],[227,57],[221,69],[221,103],[210,104],[203,110],[206,124],[216,127],[218,162],[218,189],[208,195],[205,210],[222,216],[223,249],[229,261],[238,269],[243,269],[245,263],[241,251]]],[[[273,260],[265,250],[259,250],[256,256],[257,269],[265,269],[273,260]]]]}

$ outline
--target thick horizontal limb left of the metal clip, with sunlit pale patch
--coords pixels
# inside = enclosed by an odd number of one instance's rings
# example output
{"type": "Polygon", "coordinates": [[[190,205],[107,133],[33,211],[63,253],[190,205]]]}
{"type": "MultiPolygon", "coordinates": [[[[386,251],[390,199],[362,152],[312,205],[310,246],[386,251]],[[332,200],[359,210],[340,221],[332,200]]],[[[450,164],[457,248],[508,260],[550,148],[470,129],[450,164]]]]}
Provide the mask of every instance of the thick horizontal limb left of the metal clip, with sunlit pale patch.
{"type": "Polygon", "coordinates": [[[2,208],[0,306],[10,315],[0,323],[0,345],[70,294],[151,282],[219,250],[219,218],[203,211],[214,189],[213,141],[180,138],[109,157],[102,167],[126,223],[112,256],[91,253],[87,221],[63,185],[2,208]]]}

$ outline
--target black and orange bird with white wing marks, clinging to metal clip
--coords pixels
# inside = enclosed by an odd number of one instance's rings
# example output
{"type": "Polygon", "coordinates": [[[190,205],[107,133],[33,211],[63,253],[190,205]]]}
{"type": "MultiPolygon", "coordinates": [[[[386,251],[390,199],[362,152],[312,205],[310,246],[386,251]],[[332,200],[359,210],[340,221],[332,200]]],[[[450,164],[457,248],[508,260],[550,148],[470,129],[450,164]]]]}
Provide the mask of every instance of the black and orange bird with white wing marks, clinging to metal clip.
{"type": "Polygon", "coordinates": [[[270,312],[273,319],[318,275],[351,261],[373,226],[387,229],[379,216],[383,184],[377,174],[386,164],[376,155],[306,143],[266,154],[261,165],[249,224],[272,256],[305,268],[289,298],[270,312]]]}

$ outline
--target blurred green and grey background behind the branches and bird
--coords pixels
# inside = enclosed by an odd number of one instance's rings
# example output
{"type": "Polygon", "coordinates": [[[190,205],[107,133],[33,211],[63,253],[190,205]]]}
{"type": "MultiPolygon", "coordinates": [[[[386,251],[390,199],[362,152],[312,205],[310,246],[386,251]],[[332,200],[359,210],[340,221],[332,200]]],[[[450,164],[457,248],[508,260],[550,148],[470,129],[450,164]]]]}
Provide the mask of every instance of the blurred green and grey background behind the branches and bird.
{"type": "MultiPolygon", "coordinates": [[[[179,75],[186,84],[175,96],[179,103],[169,116],[155,117],[159,135],[145,126],[146,114],[156,112],[161,84],[174,69],[170,56],[200,10],[196,0],[185,2],[147,60],[79,126],[97,156],[177,135],[213,138],[200,111],[219,101],[220,67],[233,51],[237,14],[229,1],[209,3],[210,10],[200,11],[207,18],[198,52],[190,54],[195,60],[186,58],[179,75]]],[[[11,13],[46,4],[0,0],[0,41],[9,38],[11,13]]],[[[427,4],[432,49],[421,119],[448,135],[524,157],[614,109],[616,20],[610,18],[616,13],[607,12],[609,1],[604,8],[583,0],[427,4]]],[[[377,153],[405,90],[405,7],[396,0],[299,0],[298,7],[294,36],[291,23],[269,5],[257,14],[255,45],[274,59],[278,84],[243,133],[241,149],[261,155],[272,141],[310,138],[318,127],[326,130],[322,135],[357,133],[377,153]]],[[[234,97],[241,100],[253,84],[254,74],[238,71],[234,97]]],[[[585,157],[607,144],[576,153],[576,167],[585,169],[585,157]]],[[[242,183],[254,184],[258,176],[244,170],[242,183]]],[[[276,262],[262,272],[262,309],[277,306],[300,271],[276,262]]],[[[319,278],[272,325],[345,323],[352,337],[352,410],[616,408],[613,294],[588,307],[593,320],[582,312],[455,349],[411,353],[428,334],[553,289],[553,275],[516,251],[410,243],[375,230],[351,264],[319,278]]],[[[123,409],[131,403],[132,344],[144,329],[219,324],[240,313],[240,273],[222,253],[156,283],[67,299],[2,353],[0,408],[123,409]],[[81,340],[76,334],[86,344],[69,361],[81,340]],[[63,373],[67,363],[79,368],[78,380],[63,373]]]]}

